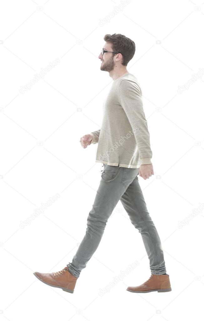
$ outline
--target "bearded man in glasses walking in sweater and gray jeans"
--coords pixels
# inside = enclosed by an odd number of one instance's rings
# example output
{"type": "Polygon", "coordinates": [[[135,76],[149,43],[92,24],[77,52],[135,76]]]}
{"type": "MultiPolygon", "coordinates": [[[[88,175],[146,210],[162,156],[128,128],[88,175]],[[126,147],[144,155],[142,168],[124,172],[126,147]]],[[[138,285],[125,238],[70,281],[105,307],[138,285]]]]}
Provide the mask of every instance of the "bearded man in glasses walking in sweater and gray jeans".
{"type": "Polygon", "coordinates": [[[86,234],[72,262],[54,273],[35,272],[42,282],[74,292],[76,281],[97,249],[112,211],[120,200],[132,224],[142,235],[150,261],[151,276],[131,292],[171,291],[166,273],[160,238],[147,211],[138,175],[154,175],[151,163],[150,135],[145,119],[142,91],[137,79],[126,66],[135,54],[135,43],[121,34],[105,35],[99,55],[102,71],[108,71],[113,82],[103,105],[100,129],[80,138],[83,148],[98,143],[96,162],[104,165],[102,179],[87,218],[86,234]]]}

